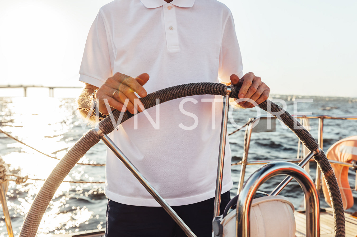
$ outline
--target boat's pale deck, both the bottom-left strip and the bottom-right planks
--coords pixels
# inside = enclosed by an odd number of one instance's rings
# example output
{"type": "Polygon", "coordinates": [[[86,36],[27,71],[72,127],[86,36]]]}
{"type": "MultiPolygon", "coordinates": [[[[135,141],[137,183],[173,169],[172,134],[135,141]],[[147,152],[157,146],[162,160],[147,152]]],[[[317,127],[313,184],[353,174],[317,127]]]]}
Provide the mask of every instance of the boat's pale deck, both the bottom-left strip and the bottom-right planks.
{"type": "MultiPolygon", "coordinates": [[[[332,208],[326,208],[320,213],[320,237],[333,237],[332,208]]],[[[296,237],[306,236],[306,216],[301,212],[294,212],[296,222],[296,237]]],[[[357,216],[345,212],[346,237],[357,237],[357,216]]],[[[54,237],[104,237],[104,230],[81,231],[54,237]]]]}

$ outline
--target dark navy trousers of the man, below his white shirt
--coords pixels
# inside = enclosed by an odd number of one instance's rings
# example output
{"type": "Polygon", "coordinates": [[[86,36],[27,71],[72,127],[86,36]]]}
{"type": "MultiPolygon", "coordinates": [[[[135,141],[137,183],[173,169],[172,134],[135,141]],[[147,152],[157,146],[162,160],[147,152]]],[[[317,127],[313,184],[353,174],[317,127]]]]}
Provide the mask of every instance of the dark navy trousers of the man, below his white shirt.
{"type": "MultiPolygon", "coordinates": [[[[229,191],[221,196],[221,214],[230,201],[229,191]]],[[[197,237],[212,236],[214,198],[194,204],[173,206],[197,237]]],[[[108,199],[106,237],[186,237],[162,207],[125,205],[108,199]]]]}

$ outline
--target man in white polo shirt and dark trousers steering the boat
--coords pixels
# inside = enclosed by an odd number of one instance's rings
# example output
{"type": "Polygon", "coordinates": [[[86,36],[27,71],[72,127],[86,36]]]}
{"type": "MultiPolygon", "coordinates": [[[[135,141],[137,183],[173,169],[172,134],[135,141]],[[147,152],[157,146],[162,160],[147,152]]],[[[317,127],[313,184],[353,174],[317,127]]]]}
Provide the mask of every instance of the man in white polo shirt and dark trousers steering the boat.
{"type": "MultiPolygon", "coordinates": [[[[111,112],[104,99],[120,111],[129,101],[123,110],[135,114],[138,97],[186,83],[232,83],[241,86],[239,98],[257,104],[269,95],[259,77],[243,75],[232,14],[216,0],[116,0],[101,7],[80,74],[86,86],[79,107],[90,109],[97,89],[102,116],[111,112]]],[[[150,108],[109,135],[197,236],[212,230],[222,113],[215,98],[221,96],[165,102],[159,113],[150,108]]],[[[222,209],[233,184],[228,142],[225,153],[222,209]]],[[[105,193],[107,237],[186,236],[110,151],[105,193]]]]}

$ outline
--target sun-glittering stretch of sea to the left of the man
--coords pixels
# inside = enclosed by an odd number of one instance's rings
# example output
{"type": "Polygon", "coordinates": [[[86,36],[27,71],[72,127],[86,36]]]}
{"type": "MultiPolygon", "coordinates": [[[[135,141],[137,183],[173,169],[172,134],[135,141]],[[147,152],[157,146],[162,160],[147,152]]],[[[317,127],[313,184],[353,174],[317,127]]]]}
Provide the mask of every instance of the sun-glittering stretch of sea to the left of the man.
{"type": "MultiPolygon", "coordinates": [[[[0,111],[3,117],[1,129],[52,157],[61,159],[82,132],[89,129],[87,127],[83,130],[84,124],[76,118],[72,99],[14,97],[4,98],[1,102],[0,111]]],[[[46,179],[57,165],[58,160],[8,139],[2,133],[0,135],[1,156],[5,163],[9,164],[11,173],[28,175],[33,179],[46,179]]],[[[101,150],[104,155],[105,149],[101,150]]],[[[88,163],[89,158],[84,156],[80,162],[88,163]]],[[[104,160],[100,161],[102,162],[104,160]]],[[[86,168],[76,165],[65,180],[95,181],[96,178],[101,178],[99,181],[104,181],[102,168],[95,167],[95,170],[86,168]]],[[[25,184],[18,185],[10,181],[7,205],[15,236],[19,234],[23,218],[43,184],[44,181],[31,179],[25,184]]],[[[94,195],[99,195],[99,199],[105,198],[100,185],[62,183],[42,218],[39,228],[41,236],[50,232],[58,234],[75,232],[81,228],[81,224],[89,222],[93,229],[101,228],[101,224],[98,223],[104,221],[100,213],[101,210],[105,210],[105,206],[97,205],[98,207],[93,208],[87,205],[93,202],[94,195]]],[[[1,221],[0,237],[5,235],[5,222],[1,221]]]]}

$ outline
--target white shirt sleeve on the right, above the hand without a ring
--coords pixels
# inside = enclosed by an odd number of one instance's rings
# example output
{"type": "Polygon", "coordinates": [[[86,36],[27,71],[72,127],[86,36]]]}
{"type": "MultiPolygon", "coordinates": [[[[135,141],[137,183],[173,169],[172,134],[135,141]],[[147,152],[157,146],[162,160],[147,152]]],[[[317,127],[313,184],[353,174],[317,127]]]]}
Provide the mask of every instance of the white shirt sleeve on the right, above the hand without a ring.
{"type": "Polygon", "coordinates": [[[222,82],[231,82],[230,76],[237,74],[243,77],[242,56],[239,48],[233,16],[230,12],[223,27],[222,44],[220,50],[218,78],[222,82]]]}

